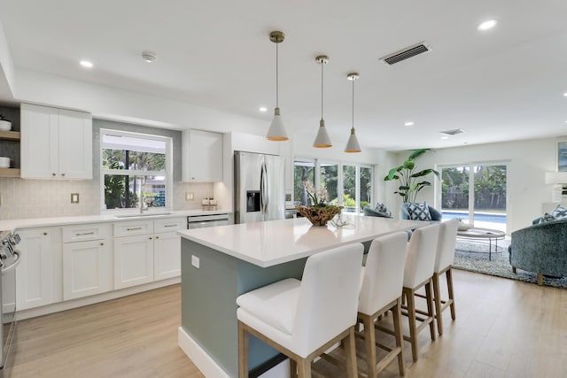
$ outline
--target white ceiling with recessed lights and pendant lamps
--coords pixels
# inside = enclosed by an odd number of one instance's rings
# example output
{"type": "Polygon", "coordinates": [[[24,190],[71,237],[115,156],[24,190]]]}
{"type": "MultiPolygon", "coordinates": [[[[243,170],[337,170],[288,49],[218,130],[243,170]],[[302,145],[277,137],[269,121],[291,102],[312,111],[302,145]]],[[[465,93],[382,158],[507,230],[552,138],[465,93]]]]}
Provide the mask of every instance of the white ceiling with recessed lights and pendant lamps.
{"type": "MultiPolygon", "coordinates": [[[[205,105],[331,140],[354,127],[363,147],[406,150],[567,135],[564,0],[2,0],[0,22],[16,67],[205,105]],[[481,33],[477,25],[498,19],[481,33]],[[386,66],[416,42],[432,51],[386,66]],[[147,64],[142,50],[158,59],[147,64]],[[85,70],[82,58],[95,67],[85,70]],[[268,107],[267,113],[258,111],[268,107]],[[404,122],[415,125],[405,127],[404,122]],[[439,131],[466,133],[441,140],[439,131]]],[[[344,142],[343,142],[344,143],[344,142]]]]}

